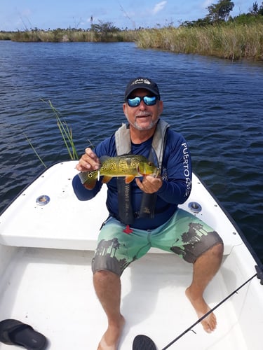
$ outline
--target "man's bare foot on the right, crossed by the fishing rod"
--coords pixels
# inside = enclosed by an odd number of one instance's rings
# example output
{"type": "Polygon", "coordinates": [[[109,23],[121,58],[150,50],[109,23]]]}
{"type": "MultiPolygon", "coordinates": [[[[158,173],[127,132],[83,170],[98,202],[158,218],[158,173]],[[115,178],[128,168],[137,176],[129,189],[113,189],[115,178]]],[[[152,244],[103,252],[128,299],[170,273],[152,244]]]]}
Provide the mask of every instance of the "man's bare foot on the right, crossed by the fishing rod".
{"type": "MultiPolygon", "coordinates": [[[[187,295],[188,299],[190,300],[191,304],[196,310],[198,318],[201,318],[204,314],[210,311],[210,307],[208,307],[208,304],[206,304],[205,300],[203,300],[203,297],[194,298],[191,295],[190,288],[187,288],[187,290],[185,290],[185,294],[187,295]]],[[[211,312],[211,314],[209,314],[203,319],[203,321],[201,321],[201,325],[203,325],[203,329],[205,330],[205,332],[213,332],[213,330],[215,330],[217,326],[217,318],[215,317],[215,314],[211,312]]]]}

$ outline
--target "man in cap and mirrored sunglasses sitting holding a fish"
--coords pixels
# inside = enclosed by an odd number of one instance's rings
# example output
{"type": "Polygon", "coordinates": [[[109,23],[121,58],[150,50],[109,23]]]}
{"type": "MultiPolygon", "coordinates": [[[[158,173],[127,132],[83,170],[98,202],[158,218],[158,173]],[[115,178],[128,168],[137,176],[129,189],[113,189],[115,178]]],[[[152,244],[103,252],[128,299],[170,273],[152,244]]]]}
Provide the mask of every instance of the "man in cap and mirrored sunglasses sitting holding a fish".
{"type": "MultiPolygon", "coordinates": [[[[97,170],[102,155],[114,157],[130,152],[144,155],[161,169],[160,176],[136,178],[130,185],[123,178],[107,183],[109,218],[100,231],[92,262],[95,292],[108,319],[99,350],[117,349],[125,322],[120,310],[120,277],[130,262],[142,257],[151,246],[173,251],[193,263],[193,279],[186,295],[198,317],[209,311],[203,292],[220,267],[223,242],[196,216],[177,208],[191,191],[191,159],[182,135],[160,119],[162,111],[159,87],[153,80],[142,77],[130,80],[123,104],[128,125],[102,141],[94,151],[86,148],[76,166],[80,172],[97,170]],[[202,232],[206,232],[201,237],[195,230],[200,225],[204,228],[202,232]],[[101,253],[103,244],[109,241],[118,244],[114,257],[101,253]]],[[[100,190],[101,181],[87,189],[75,176],[74,192],[79,200],[90,200],[100,190]]],[[[215,315],[206,317],[202,325],[206,332],[215,330],[215,315]]]]}

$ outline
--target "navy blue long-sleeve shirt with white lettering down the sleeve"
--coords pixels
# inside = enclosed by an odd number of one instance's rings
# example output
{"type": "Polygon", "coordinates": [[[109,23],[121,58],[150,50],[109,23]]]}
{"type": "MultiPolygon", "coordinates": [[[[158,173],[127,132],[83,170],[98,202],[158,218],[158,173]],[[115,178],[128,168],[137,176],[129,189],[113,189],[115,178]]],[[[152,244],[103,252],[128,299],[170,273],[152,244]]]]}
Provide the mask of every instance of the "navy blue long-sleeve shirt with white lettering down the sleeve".
{"type": "MultiPolygon", "coordinates": [[[[148,157],[151,151],[152,138],[142,144],[132,144],[131,153],[148,157]]],[[[115,137],[109,137],[102,141],[94,152],[97,157],[109,155],[115,157],[115,137]]],[[[178,204],[184,203],[191,192],[191,156],[187,142],[181,134],[170,130],[167,131],[166,148],[163,155],[163,166],[161,171],[163,184],[157,192],[156,208],[154,218],[135,218],[132,228],[142,230],[154,229],[166,221],[175,213],[178,204]]],[[[79,176],[74,176],[72,185],[74,193],[79,200],[91,200],[102,187],[102,178],[97,181],[93,190],[87,190],[81,184],[79,176]]],[[[109,213],[118,216],[118,191],[116,178],[107,183],[107,209],[109,213]]],[[[133,211],[140,211],[142,201],[142,190],[137,187],[133,180],[131,183],[131,202],[133,211]]]]}

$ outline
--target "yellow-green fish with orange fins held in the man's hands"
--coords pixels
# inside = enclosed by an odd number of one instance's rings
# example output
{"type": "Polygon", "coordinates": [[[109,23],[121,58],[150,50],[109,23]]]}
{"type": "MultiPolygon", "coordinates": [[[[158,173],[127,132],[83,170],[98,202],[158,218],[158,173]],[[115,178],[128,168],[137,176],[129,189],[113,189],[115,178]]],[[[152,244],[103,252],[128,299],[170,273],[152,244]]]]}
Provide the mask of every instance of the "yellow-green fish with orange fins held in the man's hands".
{"type": "Polygon", "coordinates": [[[119,155],[116,157],[109,157],[103,155],[100,158],[101,167],[99,170],[92,172],[81,172],[79,177],[81,183],[85,187],[92,190],[96,181],[103,176],[102,183],[107,183],[113,177],[125,177],[125,182],[130,183],[135,177],[152,175],[159,175],[159,168],[153,163],[149,162],[143,155],[119,155]]]}

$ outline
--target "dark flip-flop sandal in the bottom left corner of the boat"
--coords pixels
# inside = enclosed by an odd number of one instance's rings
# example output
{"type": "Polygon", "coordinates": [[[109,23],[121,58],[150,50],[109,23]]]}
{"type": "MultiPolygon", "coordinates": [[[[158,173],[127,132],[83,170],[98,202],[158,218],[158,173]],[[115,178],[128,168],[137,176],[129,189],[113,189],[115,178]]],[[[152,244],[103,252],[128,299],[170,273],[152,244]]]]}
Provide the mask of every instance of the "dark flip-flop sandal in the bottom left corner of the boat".
{"type": "Polygon", "coordinates": [[[45,350],[48,345],[46,337],[36,332],[31,325],[11,318],[0,322],[0,341],[24,346],[27,350],[45,350]]]}

